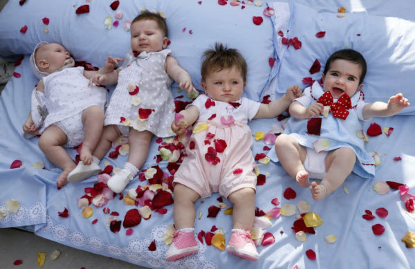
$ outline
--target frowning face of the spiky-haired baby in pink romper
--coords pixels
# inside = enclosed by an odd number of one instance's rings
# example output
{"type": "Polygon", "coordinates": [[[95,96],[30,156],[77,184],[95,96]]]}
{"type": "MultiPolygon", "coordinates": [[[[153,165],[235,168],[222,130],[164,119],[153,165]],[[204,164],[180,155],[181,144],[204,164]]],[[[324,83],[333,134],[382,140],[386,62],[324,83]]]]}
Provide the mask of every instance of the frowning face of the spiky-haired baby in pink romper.
{"type": "Polygon", "coordinates": [[[241,71],[232,67],[219,72],[211,71],[201,85],[213,100],[234,102],[241,98],[246,82],[243,81],[241,71]]]}

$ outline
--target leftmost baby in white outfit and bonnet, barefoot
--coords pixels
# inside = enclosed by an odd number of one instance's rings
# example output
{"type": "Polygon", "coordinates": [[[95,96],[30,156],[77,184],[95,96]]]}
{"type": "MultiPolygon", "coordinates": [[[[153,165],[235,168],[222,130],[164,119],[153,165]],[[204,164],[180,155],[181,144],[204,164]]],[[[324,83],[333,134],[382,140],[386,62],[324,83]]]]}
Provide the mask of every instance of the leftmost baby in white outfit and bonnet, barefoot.
{"type": "Polygon", "coordinates": [[[40,81],[32,93],[32,109],[23,131],[31,136],[42,133],[40,149],[63,170],[57,178],[58,187],[68,183],[68,174],[76,167],[64,147],[82,143],[80,160],[92,162],[92,151],[102,133],[107,90],[90,85],[89,80],[114,69],[111,63],[99,71],[86,71],[74,64],[66,48],[57,43],[42,41],[30,56],[30,68],[40,81]],[[44,115],[37,106],[44,107],[44,115]]]}

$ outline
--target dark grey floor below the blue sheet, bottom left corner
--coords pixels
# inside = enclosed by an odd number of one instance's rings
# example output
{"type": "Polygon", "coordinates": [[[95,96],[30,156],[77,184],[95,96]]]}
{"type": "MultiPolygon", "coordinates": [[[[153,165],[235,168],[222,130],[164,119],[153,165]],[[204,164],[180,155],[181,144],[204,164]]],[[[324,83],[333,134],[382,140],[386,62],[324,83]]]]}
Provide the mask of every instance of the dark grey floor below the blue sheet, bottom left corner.
{"type": "Polygon", "coordinates": [[[84,250],[49,241],[32,232],[25,232],[12,228],[0,229],[0,268],[1,269],[33,269],[37,265],[37,252],[47,254],[44,269],[146,269],[118,259],[111,259],[84,250]],[[53,250],[59,250],[61,254],[52,261],[50,254],[53,250]],[[16,267],[13,263],[21,260],[23,263],[16,267]]]}

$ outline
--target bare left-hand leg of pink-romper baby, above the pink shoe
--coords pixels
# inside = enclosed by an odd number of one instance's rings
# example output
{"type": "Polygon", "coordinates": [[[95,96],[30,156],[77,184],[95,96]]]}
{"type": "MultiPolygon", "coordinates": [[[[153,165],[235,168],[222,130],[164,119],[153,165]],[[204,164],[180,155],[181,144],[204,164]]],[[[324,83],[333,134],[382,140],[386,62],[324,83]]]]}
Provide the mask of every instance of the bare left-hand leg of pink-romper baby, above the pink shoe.
{"type": "Polygon", "coordinates": [[[199,194],[190,187],[181,183],[174,186],[173,219],[176,230],[194,227],[194,202],[199,199],[199,194]]]}

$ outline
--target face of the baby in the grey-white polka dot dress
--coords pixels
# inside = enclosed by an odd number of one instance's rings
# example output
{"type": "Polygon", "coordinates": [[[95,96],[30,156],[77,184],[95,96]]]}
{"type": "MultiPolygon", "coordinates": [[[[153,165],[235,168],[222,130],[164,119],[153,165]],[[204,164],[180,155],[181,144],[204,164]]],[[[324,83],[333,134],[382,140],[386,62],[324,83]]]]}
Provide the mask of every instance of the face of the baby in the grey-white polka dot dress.
{"type": "Polygon", "coordinates": [[[137,53],[152,53],[167,46],[167,37],[156,21],[142,20],[131,25],[131,48],[137,53]]]}

